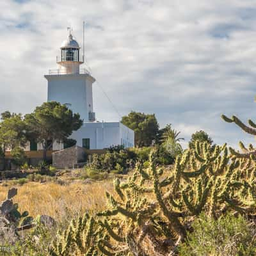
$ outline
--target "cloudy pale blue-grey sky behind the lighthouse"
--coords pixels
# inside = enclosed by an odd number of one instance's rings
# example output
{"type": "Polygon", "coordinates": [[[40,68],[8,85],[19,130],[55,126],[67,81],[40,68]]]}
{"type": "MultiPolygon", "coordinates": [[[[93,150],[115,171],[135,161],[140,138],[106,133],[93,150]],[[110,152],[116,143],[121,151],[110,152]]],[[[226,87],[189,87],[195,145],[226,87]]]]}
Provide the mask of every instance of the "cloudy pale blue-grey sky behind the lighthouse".
{"type": "Polygon", "coordinates": [[[255,0],[1,0],[0,10],[1,112],[47,100],[44,74],[57,68],[68,26],[82,46],[85,20],[98,120],[155,113],[184,147],[201,129],[218,144],[254,143],[220,116],[255,120],[255,0]]]}

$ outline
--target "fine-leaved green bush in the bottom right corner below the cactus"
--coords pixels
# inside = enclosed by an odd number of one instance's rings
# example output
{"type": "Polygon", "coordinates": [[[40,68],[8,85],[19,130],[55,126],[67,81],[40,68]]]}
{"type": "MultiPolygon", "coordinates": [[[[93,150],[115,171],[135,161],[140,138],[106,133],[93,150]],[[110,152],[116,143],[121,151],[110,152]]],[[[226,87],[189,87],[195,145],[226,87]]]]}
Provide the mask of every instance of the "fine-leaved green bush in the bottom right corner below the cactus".
{"type": "Polygon", "coordinates": [[[180,256],[249,256],[256,255],[255,225],[243,216],[231,215],[218,220],[200,216],[188,234],[186,243],[179,247],[180,256]]]}

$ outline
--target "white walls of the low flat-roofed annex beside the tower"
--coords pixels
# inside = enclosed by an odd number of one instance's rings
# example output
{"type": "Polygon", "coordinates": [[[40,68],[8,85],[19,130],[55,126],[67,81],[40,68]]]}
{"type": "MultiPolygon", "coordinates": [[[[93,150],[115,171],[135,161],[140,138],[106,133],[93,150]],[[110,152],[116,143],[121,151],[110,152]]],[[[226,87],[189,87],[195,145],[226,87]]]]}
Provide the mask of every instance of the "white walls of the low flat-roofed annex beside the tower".
{"type": "Polygon", "coordinates": [[[120,122],[84,123],[78,131],[70,136],[77,141],[77,146],[83,147],[83,138],[90,138],[90,149],[109,148],[123,144],[125,147],[134,147],[134,132],[120,124],[120,122]],[[124,137],[125,143],[121,138],[124,137]]]}

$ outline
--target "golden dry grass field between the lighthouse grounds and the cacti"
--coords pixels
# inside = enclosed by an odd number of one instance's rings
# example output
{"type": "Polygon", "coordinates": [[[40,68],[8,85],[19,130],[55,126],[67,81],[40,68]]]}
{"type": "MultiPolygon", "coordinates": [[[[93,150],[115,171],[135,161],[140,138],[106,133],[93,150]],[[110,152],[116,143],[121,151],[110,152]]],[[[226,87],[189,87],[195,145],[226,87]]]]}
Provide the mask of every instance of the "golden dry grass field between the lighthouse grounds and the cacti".
{"type": "MultiPolygon", "coordinates": [[[[13,186],[0,186],[0,200],[6,198],[6,192],[13,186]]],[[[57,221],[68,221],[84,212],[95,213],[106,207],[105,192],[113,193],[112,180],[84,184],[83,181],[61,186],[54,182],[40,184],[28,182],[18,188],[13,201],[19,204],[20,211],[29,211],[35,217],[47,214],[57,221]]]]}

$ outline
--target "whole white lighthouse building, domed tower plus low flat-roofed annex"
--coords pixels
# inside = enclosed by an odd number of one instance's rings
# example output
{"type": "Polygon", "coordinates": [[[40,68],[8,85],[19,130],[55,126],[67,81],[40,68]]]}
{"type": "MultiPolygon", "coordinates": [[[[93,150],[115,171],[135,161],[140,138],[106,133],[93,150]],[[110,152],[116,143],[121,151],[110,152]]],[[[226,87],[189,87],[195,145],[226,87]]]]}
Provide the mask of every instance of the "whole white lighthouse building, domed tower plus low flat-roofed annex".
{"type": "MultiPolygon", "coordinates": [[[[61,57],[57,57],[58,69],[49,70],[45,75],[48,81],[47,101],[66,104],[73,113],[79,113],[84,120],[83,126],[71,138],[77,145],[88,149],[109,148],[115,145],[134,147],[134,131],[120,122],[97,122],[93,112],[93,83],[95,78],[85,68],[81,68],[79,44],[71,31],[67,40],[61,44],[61,57]]],[[[54,143],[53,150],[63,145],[54,143]]]]}

